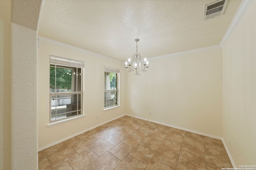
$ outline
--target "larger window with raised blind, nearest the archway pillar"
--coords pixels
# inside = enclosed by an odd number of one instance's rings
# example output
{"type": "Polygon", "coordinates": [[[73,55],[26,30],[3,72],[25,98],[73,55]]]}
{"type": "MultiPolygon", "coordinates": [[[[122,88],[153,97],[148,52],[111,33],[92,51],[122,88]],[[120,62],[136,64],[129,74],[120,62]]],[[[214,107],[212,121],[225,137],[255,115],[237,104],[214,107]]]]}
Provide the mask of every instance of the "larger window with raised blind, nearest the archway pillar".
{"type": "Polygon", "coordinates": [[[82,114],[84,62],[50,56],[50,122],[82,114]]]}

